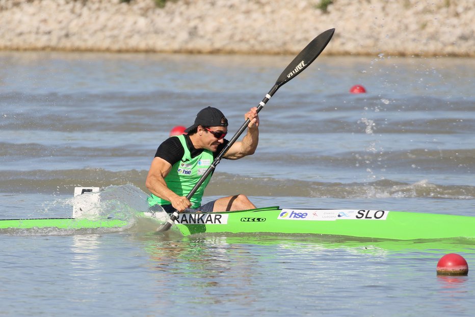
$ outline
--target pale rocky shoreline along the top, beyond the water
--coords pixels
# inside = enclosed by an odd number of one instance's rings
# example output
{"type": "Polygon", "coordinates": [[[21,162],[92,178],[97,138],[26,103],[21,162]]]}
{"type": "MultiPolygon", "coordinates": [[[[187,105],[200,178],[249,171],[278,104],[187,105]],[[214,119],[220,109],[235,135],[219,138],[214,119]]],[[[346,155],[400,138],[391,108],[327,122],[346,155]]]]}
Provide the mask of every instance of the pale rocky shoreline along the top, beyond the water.
{"type": "Polygon", "coordinates": [[[475,57],[473,0],[0,0],[0,49],[475,57]]]}

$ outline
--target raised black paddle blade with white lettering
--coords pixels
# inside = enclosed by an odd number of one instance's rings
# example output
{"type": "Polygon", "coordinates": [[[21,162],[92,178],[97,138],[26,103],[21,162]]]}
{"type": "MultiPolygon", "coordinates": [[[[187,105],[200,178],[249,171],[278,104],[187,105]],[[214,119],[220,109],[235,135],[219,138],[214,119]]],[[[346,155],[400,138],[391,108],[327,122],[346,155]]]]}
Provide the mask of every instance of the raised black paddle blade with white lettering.
{"type": "Polygon", "coordinates": [[[288,64],[275,84],[280,87],[307,68],[325,49],[333,33],[335,33],[335,29],[327,30],[308,43],[292,63],[288,64]]]}

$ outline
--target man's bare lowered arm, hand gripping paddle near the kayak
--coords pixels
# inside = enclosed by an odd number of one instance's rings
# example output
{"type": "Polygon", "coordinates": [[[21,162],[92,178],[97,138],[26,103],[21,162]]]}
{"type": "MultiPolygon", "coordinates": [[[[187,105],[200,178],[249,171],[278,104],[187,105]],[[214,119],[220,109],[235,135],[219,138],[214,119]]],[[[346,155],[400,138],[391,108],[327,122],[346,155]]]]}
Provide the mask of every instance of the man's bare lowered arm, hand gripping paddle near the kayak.
{"type": "Polygon", "coordinates": [[[178,196],[167,187],[165,177],[171,171],[172,165],[161,157],[155,157],[150,165],[145,186],[150,193],[171,202],[180,213],[191,206],[191,202],[184,196],[178,196]]]}

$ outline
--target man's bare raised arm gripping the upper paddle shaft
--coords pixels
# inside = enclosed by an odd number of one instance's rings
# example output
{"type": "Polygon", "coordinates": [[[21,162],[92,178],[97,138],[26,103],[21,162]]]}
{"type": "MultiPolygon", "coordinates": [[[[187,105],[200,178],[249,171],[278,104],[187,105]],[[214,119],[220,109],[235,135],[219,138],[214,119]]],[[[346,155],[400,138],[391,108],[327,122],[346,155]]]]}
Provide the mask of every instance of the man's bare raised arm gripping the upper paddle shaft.
{"type": "Polygon", "coordinates": [[[257,115],[257,108],[251,108],[248,113],[244,115],[251,122],[248,124],[247,133],[242,141],[235,142],[224,155],[228,160],[237,160],[246,155],[254,154],[257,143],[259,142],[259,116],[257,115]]]}

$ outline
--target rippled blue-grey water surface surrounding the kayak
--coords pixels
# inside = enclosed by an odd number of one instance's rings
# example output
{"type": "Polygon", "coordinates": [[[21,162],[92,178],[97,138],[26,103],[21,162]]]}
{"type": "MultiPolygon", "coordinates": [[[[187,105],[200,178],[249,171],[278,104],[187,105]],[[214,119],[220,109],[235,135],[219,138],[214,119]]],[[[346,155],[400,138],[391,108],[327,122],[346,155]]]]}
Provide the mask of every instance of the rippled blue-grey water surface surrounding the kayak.
{"type": "MultiPolygon", "coordinates": [[[[101,215],[146,208],[175,125],[213,105],[232,134],[293,56],[0,52],[0,219],[68,217],[75,186],[101,215]],[[106,199],[107,197],[107,199],[106,199]]],[[[319,57],[260,113],[257,152],[223,160],[205,201],[475,216],[475,60],[319,57]],[[352,85],[367,93],[352,95],[352,85]]],[[[437,277],[475,243],[331,236],[10,230],[5,315],[468,316],[468,277],[437,277]]]]}

